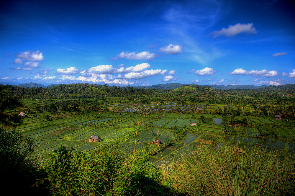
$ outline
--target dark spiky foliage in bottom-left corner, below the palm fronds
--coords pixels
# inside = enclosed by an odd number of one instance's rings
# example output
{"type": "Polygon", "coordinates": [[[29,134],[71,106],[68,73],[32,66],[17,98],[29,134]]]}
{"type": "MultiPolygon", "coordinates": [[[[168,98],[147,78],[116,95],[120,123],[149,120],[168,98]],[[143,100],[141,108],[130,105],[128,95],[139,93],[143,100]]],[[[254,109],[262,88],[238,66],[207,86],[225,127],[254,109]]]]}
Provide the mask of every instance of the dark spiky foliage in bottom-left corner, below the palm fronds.
{"type": "MultiPolygon", "coordinates": [[[[0,183],[4,187],[27,183],[38,175],[35,139],[22,137],[18,131],[0,132],[0,183]]],[[[21,185],[22,186],[22,185],[21,185]]]]}

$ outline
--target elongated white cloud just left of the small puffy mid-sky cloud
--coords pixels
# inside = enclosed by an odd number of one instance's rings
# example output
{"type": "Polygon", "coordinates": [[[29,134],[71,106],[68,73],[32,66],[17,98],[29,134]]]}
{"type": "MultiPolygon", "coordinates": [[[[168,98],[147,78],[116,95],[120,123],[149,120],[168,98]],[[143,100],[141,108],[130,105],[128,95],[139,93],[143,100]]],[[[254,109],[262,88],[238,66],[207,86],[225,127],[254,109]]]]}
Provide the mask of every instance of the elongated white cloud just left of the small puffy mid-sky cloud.
{"type": "Polygon", "coordinates": [[[117,60],[118,58],[124,58],[124,59],[134,59],[134,60],[153,60],[157,58],[158,55],[155,53],[150,53],[149,51],[143,51],[143,52],[121,52],[120,54],[117,54],[113,59],[117,60]]]}

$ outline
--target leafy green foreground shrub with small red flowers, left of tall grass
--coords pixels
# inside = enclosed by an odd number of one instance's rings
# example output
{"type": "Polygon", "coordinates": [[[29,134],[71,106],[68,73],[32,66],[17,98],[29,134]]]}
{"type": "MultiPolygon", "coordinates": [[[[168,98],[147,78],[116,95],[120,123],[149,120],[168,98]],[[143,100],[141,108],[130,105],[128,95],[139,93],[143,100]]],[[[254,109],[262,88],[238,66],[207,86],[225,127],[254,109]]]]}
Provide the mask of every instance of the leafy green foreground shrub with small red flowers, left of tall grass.
{"type": "Polygon", "coordinates": [[[124,160],[108,148],[90,154],[60,147],[45,161],[44,183],[51,195],[171,195],[158,168],[148,157],[124,160]]]}

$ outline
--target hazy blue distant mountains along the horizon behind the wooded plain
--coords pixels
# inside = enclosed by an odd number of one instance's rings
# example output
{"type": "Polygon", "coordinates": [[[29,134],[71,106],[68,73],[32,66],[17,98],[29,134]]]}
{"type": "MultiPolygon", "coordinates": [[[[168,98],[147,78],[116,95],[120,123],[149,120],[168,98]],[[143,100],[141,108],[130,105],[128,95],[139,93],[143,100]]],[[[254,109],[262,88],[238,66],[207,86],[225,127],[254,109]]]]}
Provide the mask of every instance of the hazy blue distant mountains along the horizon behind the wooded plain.
{"type": "MultiPolygon", "coordinates": [[[[29,87],[29,88],[50,88],[51,86],[58,86],[59,84],[50,84],[47,86],[44,86],[42,84],[37,84],[37,83],[25,83],[25,84],[19,84],[17,85],[17,87],[29,87]]],[[[281,85],[281,86],[267,86],[267,85],[262,85],[262,86],[255,86],[255,85],[242,85],[242,84],[238,84],[238,85],[216,85],[216,84],[208,84],[208,85],[198,85],[198,84],[180,84],[180,83],[168,83],[168,84],[155,84],[152,86],[138,86],[138,87],[133,87],[133,88],[140,88],[140,89],[167,89],[167,90],[173,90],[173,89],[177,89],[180,88],[184,85],[190,86],[190,85],[197,85],[197,86],[208,86],[211,89],[214,90],[222,90],[222,89],[260,89],[260,88],[266,88],[266,89],[295,89],[295,84],[285,84],[285,85],[281,85]]],[[[127,87],[132,87],[132,86],[127,86],[127,87]]]]}

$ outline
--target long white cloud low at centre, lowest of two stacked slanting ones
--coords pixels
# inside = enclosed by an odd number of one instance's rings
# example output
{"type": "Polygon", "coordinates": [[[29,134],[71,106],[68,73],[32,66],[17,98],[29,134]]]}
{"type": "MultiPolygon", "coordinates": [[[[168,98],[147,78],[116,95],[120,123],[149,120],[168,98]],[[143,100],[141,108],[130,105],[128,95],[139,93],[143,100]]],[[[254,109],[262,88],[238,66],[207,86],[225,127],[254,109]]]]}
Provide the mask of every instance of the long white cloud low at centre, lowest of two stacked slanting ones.
{"type": "Polygon", "coordinates": [[[165,75],[166,72],[168,70],[167,69],[150,69],[150,70],[145,70],[143,72],[139,72],[139,73],[135,73],[135,72],[131,72],[128,74],[124,74],[121,75],[119,74],[117,76],[117,78],[124,78],[124,79],[142,79],[142,78],[146,78],[146,77],[150,77],[150,76],[157,76],[157,75],[165,75]]]}

